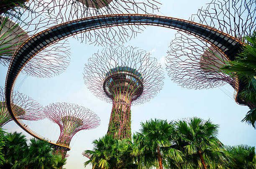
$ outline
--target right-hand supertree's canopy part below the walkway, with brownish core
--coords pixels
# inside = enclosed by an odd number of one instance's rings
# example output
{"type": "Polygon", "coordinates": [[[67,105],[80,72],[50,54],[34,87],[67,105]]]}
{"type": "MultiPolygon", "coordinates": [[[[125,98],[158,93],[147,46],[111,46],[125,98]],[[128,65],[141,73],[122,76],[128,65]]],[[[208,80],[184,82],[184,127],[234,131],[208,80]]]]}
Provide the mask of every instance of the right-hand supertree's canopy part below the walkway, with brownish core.
{"type": "Polygon", "coordinates": [[[226,83],[235,88],[236,79],[220,70],[228,57],[197,37],[182,32],[175,36],[166,57],[166,70],[174,82],[188,89],[213,88],[226,83]]]}

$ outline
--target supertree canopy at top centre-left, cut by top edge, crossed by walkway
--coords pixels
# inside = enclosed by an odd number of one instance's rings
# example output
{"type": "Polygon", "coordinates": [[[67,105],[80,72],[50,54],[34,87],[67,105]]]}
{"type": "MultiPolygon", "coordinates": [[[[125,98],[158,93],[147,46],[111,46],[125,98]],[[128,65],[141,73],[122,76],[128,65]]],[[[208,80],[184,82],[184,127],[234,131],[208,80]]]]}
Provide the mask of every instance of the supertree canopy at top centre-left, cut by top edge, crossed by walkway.
{"type": "MultiPolygon", "coordinates": [[[[97,15],[151,14],[158,11],[157,5],[160,5],[156,0],[40,0],[39,4],[47,13],[55,15],[59,23],[97,15]]],[[[127,25],[91,30],[76,36],[82,42],[104,46],[122,44],[140,31],[141,27],[127,25]]]]}

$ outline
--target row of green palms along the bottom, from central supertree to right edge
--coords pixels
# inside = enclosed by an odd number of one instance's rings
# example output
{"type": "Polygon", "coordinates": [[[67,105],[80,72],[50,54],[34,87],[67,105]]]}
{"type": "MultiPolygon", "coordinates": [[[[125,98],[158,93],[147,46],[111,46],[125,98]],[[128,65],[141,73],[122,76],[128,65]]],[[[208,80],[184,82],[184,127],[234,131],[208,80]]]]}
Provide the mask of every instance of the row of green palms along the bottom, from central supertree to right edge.
{"type": "Polygon", "coordinates": [[[141,122],[141,130],[133,134],[132,140],[117,140],[109,135],[94,140],[94,149],[84,151],[90,154],[84,166],[161,169],[162,164],[165,169],[256,169],[254,147],[224,147],[217,135],[218,125],[210,120],[194,117],[168,123],[151,119],[141,122]]]}

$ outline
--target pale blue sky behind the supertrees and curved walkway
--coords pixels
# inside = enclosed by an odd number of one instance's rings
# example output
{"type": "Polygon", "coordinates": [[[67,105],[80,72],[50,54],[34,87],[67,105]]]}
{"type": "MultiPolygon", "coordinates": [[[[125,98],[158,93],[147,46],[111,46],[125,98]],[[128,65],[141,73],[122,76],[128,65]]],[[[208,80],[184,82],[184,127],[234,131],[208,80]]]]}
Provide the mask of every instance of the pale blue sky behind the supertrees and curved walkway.
{"type": "MultiPolygon", "coordinates": [[[[159,15],[186,19],[191,14],[197,13],[197,9],[210,2],[208,0],[161,0],[161,12],[159,15]]],[[[171,40],[177,31],[163,27],[146,26],[146,29],[137,37],[124,45],[139,47],[151,52],[164,64],[164,57],[171,40]]],[[[82,156],[85,149],[92,149],[92,140],[106,134],[112,105],[95,97],[86,87],[83,80],[83,68],[87,59],[103,47],[81,44],[77,40],[69,38],[71,47],[71,63],[67,70],[56,77],[39,79],[20,75],[15,89],[27,94],[46,106],[53,102],[69,102],[79,104],[94,111],[101,119],[100,127],[92,130],[78,132],[72,139],[71,151],[67,154],[67,169],[83,169],[83,163],[87,160],[82,156]]],[[[185,89],[173,83],[167,76],[165,65],[163,89],[149,102],[131,107],[132,132],[139,131],[140,122],[151,118],[167,119],[168,121],[188,117],[200,117],[211,119],[220,125],[219,139],[224,144],[248,144],[256,146],[256,131],[241,119],[248,111],[248,107],[236,104],[233,99],[233,88],[229,85],[214,89],[193,90],[185,89]],[[226,91],[225,93],[223,91],[226,91]]],[[[4,86],[7,68],[0,67],[0,85],[4,86]]],[[[56,140],[59,137],[59,126],[44,119],[38,122],[27,122],[35,132],[56,140]]],[[[14,122],[9,122],[3,128],[7,131],[23,132],[14,122]]],[[[23,132],[25,133],[25,132],[23,132]]],[[[26,134],[27,135],[27,134],[26,134]]],[[[31,138],[31,136],[28,136],[31,138]]],[[[91,167],[87,167],[88,169],[91,167]]]]}

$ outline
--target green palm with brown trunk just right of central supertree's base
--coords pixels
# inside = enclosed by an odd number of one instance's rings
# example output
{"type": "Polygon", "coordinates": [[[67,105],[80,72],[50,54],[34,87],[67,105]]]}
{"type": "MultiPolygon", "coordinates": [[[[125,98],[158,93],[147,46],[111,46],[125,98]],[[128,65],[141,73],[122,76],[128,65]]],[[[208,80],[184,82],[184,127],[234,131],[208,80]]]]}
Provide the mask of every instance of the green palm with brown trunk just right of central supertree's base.
{"type": "Polygon", "coordinates": [[[172,122],[168,123],[166,120],[151,119],[146,123],[141,122],[141,134],[145,137],[148,144],[148,149],[151,150],[151,155],[155,157],[159,163],[159,168],[163,169],[163,160],[174,158],[177,161],[182,160],[181,152],[170,147],[172,142],[169,138],[175,133],[175,127],[172,122]]]}

